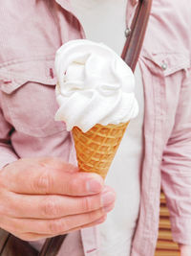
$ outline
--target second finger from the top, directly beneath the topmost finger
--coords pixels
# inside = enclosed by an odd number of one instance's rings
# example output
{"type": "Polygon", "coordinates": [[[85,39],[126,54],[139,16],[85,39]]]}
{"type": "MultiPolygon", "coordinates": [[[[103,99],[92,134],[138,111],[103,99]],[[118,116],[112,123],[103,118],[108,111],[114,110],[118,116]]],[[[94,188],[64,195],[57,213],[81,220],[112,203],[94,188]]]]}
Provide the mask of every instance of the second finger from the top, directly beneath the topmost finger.
{"type": "Polygon", "coordinates": [[[112,188],[88,197],[30,196],[10,194],[7,215],[14,218],[57,219],[98,210],[116,199],[112,188]]]}

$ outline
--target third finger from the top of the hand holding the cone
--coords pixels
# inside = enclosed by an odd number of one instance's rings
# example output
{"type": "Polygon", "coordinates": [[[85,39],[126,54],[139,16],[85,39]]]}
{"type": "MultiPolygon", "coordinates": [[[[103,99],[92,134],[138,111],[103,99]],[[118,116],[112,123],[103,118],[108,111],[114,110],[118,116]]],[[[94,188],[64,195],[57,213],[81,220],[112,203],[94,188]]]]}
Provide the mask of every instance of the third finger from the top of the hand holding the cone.
{"type": "Polygon", "coordinates": [[[73,215],[54,220],[10,219],[6,221],[7,227],[5,229],[12,231],[19,230],[21,233],[30,232],[55,236],[96,221],[105,216],[106,212],[111,211],[113,208],[114,205],[112,204],[104,210],[96,210],[91,213],[73,215]]]}

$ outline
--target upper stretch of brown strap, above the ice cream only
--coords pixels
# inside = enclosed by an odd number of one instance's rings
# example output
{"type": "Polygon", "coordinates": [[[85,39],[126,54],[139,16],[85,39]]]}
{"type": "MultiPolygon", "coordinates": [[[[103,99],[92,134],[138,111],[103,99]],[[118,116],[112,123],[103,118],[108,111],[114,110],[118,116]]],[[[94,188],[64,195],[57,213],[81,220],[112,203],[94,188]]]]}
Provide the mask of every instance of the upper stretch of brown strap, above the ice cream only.
{"type": "Polygon", "coordinates": [[[139,0],[134,15],[131,29],[127,29],[127,40],[123,48],[121,58],[135,71],[138,56],[144,40],[149,15],[151,12],[152,0],[139,0]]]}

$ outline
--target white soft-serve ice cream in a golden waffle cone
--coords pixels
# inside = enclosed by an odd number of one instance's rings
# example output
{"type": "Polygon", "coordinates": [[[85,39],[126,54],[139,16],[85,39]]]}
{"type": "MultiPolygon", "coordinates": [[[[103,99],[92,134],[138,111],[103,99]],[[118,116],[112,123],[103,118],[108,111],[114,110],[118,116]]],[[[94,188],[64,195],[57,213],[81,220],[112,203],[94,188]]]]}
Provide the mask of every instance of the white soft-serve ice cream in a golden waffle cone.
{"type": "Polygon", "coordinates": [[[55,72],[55,120],[73,130],[80,171],[105,178],[129,121],[138,115],[134,74],[111,48],[86,39],[57,50],[55,72]]]}

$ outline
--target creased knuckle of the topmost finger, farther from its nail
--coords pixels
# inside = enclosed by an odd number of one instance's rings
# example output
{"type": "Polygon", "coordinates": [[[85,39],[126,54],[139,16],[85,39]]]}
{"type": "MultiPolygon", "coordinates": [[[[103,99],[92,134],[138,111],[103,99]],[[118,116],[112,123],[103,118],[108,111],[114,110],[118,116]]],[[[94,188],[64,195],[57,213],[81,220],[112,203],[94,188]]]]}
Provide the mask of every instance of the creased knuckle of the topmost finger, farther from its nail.
{"type": "Polygon", "coordinates": [[[51,183],[51,176],[48,172],[43,172],[34,179],[33,188],[35,191],[47,193],[50,190],[51,183]]]}

